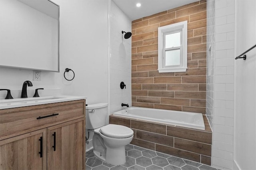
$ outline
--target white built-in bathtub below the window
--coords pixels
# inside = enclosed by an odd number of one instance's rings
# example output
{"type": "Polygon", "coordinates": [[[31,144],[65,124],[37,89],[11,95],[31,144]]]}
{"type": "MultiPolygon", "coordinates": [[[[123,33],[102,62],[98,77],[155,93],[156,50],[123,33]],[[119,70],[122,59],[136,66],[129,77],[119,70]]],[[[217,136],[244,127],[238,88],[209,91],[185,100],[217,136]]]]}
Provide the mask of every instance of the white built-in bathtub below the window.
{"type": "Polygon", "coordinates": [[[204,119],[201,113],[151,109],[144,107],[128,107],[127,109],[113,113],[113,115],[205,130],[204,119]]]}

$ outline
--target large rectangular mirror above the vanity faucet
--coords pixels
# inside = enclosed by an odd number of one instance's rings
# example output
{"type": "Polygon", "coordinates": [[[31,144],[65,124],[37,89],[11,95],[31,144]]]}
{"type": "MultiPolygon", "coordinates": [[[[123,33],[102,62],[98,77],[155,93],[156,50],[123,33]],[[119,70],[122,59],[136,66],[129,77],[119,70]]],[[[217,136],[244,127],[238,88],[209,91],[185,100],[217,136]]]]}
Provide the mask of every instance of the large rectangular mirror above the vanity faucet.
{"type": "Polygon", "coordinates": [[[59,6],[0,0],[0,66],[59,72],[59,6]]]}

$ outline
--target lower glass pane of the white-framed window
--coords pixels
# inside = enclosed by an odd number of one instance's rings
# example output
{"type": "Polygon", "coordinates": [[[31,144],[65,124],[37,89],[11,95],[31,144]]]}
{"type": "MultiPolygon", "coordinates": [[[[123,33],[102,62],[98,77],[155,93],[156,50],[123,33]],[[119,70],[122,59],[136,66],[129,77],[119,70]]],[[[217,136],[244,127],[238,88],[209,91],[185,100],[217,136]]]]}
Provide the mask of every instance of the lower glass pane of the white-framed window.
{"type": "Polygon", "coordinates": [[[180,49],[165,51],[165,66],[180,65],[180,49]]]}

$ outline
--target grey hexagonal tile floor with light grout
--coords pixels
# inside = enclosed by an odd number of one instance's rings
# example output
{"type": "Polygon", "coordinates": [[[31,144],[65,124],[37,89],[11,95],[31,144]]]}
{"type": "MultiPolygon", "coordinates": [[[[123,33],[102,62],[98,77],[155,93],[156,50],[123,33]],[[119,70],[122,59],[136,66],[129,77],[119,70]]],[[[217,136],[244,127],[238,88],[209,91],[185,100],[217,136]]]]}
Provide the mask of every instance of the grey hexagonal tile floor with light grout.
{"type": "Polygon", "coordinates": [[[156,152],[136,145],[126,145],[126,163],[107,164],[86,152],[86,170],[217,170],[211,166],[156,152]]]}

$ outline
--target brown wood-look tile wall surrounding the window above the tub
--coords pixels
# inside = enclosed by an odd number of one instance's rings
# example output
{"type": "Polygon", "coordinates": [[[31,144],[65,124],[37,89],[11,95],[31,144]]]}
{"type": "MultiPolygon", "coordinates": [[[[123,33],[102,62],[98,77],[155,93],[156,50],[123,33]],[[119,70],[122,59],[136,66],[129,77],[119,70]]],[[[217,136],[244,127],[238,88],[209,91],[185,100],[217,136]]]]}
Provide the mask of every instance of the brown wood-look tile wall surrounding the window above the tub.
{"type": "Polygon", "coordinates": [[[132,106],[206,113],[206,1],[132,21],[132,106]],[[188,69],[158,72],[158,27],[188,21],[188,69]]]}

